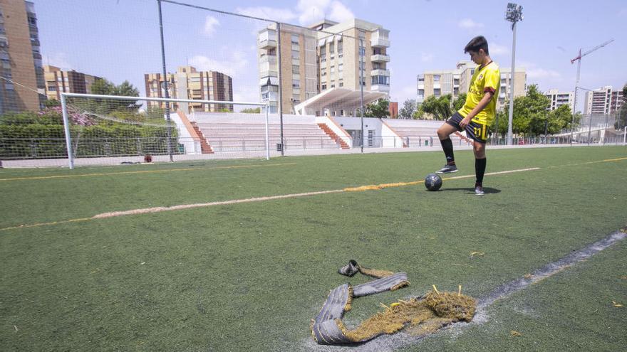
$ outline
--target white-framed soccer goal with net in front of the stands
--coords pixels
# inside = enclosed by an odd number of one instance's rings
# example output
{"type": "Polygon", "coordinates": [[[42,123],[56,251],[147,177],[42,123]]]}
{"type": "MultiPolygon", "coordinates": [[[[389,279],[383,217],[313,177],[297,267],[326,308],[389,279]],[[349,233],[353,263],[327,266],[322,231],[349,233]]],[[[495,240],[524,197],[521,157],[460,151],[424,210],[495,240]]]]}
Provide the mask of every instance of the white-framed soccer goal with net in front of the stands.
{"type": "Polygon", "coordinates": [[[260,157],[264,152],[265,159],[269,159],[267,106],[262,102],[61,93],[63,156],[70,169],[77,159],[83,161],[81,164],[96,164],[86,158],[99,158],[100,164],[137,163],[147,155],[153,161],[172,161],[172,155],[178,156],[177,160],[204,159],[200,154],[214,152],[203,135],[203,129],[207,131],[211,126],[203,127],[193,117],[221,117],[235,123],[234,119],[242,115],[252,115],[264,125],[264,138],[249,142],[249,150],[239,157],[260,157]],[[170,105],[170,119],[165,104],[170,105]],[[242,111],[247,114],[237,113],[242,111]]]}

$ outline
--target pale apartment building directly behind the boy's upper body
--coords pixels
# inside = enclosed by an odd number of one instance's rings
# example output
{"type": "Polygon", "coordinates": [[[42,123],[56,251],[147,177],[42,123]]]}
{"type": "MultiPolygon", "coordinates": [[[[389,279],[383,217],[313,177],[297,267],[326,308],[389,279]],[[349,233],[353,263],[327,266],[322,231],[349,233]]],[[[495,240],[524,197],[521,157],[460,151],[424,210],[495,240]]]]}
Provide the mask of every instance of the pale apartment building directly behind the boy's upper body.
{"type": "MultiPolygon", "coordinates": [[[[418,104],[432,95],[440,97],[450,94],[455,99],[461,93],[468,92],[470,79],[475,74],[477,65],[472,63],[472,61],[460,61],[456,66],[455,70],[425,71],[423,75],[418,75],[418,104]]],[[[499,68],[499,70],[501,71],[501,88],[499,99],[497,100],[497,109],[502,107],[509,99],[509,82],[512,79],[511,68],[499,68]]],[[[516,68],[514,97],[524,95],[526,90],[527,72],[524,68],[516,68]]]]}

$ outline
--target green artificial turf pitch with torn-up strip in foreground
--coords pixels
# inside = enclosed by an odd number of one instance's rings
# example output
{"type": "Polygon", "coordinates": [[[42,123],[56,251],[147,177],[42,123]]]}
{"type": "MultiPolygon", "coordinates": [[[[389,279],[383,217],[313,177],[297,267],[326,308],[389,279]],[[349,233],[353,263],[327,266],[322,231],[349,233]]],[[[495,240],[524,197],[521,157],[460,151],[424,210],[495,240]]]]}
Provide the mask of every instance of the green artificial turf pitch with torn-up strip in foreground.
{"type": "MultiPolygon", "coordinates": [[[[98,219],[91,217],[417,181],[444,158],[435,151],[0,169],[0,350],[357,351],[364,346],[319,348],[310,331],[330,289],[368,281],[336,273],[349,259],[407,272],[411,282],[353,302],[344,320],[354,327],[380,303],[432,284],[461,284],[482,297],[627,225],[625,147],[487,155],[487,172],[539,169],[488,175],[487,194],[477,197],[472,151],[457,151],[454,176],[471,177],[445,178],[437,192],[401,185],[98,219]]],[[[482,324],[378,348],[622,351],[625,257],[621,240],[497,300],[482,324]]]]}

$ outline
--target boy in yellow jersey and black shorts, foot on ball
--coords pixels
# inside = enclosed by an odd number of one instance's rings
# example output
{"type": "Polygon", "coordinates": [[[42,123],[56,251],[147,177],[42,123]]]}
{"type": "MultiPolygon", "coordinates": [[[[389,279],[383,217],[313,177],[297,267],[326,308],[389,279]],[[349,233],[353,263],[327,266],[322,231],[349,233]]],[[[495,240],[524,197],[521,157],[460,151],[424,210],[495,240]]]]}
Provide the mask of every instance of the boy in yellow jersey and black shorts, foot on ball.
{"type": "Polygon", "coordinates": [[[450,134],[456,131],[466,131],[467,137],[474,140],[475,149],[475,194],[483,196],[483,175],[485,174],[485,142],[487,141],[488,127],[496,115],[497,94],[501,83],[499,66],[489,57],[487,41],[483,36],[477,36],[464,48],[464,53],[470,54],[470,59],[479,65],[470,79],[470,88],[466,95],[465,105],[437,129],[437,137],[446,156],[446,165],[436,171],[437,174],[457,172],[453,144],[450,134]]]}

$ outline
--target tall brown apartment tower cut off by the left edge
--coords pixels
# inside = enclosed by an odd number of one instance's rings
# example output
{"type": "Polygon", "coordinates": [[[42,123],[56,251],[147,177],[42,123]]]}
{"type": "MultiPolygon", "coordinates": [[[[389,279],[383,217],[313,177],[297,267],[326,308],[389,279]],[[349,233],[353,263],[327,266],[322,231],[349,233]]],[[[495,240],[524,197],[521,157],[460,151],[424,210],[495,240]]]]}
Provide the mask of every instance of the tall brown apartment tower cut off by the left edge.
{"type": "Polygon", "coordinates": [[[0,114],[39,110],[46,100],[35,5],[0,0],[0,114]]]}

